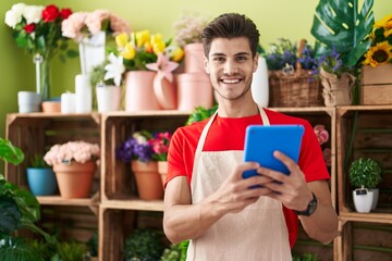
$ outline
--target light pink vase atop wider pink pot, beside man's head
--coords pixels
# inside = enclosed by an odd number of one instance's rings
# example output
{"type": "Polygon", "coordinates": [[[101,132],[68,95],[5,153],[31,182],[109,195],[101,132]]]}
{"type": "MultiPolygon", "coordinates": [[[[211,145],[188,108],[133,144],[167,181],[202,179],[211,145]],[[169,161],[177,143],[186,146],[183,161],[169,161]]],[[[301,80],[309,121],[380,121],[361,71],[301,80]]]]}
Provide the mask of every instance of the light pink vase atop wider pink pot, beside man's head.
{"type": "Polygon", "coordinates": [[[188,44],[184,46],[184,71],[185,73],[204,73],[205,71],[205,57],[201,42],[188,44]]]}

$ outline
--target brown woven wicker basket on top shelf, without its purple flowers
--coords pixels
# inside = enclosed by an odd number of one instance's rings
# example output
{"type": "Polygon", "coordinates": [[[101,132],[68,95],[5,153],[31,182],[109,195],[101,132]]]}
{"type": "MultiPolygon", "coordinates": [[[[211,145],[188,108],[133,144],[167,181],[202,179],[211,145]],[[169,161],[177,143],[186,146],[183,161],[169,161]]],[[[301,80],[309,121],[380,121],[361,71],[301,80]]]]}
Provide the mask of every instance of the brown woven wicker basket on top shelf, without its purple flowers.
{"type": "MultiPolygon", "coordinates": [[[[303,53],[305,40],[299,42],[298,52],[303,53]]],[[[293,73],[269,71],[270,107],[319,107],[323,105],[322,86],[311,75],[311,71],[297,70],[293,73]]]]}

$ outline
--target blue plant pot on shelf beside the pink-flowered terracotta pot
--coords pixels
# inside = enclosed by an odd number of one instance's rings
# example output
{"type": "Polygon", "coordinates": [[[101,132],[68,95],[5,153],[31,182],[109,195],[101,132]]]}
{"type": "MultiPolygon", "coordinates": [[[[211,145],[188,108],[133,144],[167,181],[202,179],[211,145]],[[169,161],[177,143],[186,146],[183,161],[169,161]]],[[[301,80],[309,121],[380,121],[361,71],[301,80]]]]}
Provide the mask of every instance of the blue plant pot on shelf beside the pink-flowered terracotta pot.
{"type": "Polygon", "coordinates": [[[58,190],[54,172],[49,167],[27,167],[27,184],[34,196],[50,196],[58,190]]]}

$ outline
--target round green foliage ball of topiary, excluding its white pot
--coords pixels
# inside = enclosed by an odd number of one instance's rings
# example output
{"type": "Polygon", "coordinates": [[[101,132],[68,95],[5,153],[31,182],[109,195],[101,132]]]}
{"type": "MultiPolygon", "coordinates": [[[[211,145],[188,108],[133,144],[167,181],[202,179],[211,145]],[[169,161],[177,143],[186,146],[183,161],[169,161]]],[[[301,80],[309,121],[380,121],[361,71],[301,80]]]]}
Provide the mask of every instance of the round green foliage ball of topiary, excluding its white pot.
{"type": "Polygon", "coordinates": [[[359,158],[348,170],[350,183],[356,188],[376,188],[381,182],[381,165],[370,158],[359,158]]]}

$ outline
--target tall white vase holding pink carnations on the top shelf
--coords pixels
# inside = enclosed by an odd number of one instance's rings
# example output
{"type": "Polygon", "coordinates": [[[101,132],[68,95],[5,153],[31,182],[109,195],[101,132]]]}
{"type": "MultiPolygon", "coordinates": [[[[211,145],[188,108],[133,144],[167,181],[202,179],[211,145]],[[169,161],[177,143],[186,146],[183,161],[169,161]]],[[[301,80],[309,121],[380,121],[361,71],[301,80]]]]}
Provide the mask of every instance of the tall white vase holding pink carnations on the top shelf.
{"type": "Polygon", "coordinates": [[[106,33],[103,30],[81,40],[78,48],[82,74],[89,74],[93,67],[105,61],[105,44],[106,33]]]}

